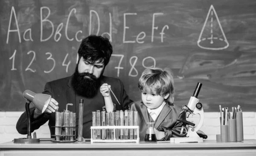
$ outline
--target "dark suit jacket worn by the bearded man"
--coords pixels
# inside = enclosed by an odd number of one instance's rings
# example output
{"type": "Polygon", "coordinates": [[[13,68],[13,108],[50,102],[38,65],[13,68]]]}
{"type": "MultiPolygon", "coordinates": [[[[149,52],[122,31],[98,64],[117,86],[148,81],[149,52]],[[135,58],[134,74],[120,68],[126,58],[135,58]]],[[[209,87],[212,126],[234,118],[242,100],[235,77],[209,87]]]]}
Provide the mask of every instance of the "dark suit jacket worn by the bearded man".
{"type": "MultiPolygon", "coordinates": [[[[72,75],[73,76],[73,75],[72,75]]],[[[83,112],[83,137],[90,138],[90,126],[92,126],[92,112],[96,110],[102,110],[102,107],[105,107],[104,98],[98,90],[98,93],[93,98],[85,98],[76,94],[71,86],[72,76],[61,78],[55,81],[47,82],[44,88],[44,94],[52,95],[56,101],[58,101],[59,112],[66,110],[66,104],[72,103],[73,106],[69,106],[68,110],[76,113],[76,135],[78,135],[78,122],[79,122],[79,99],[84,99],[84,112],[83,112]]],[[[111,78],[102,76],[101,84],[107,83],[111,85],[111,90],[113,90],[116,98],[121,105],[118,104],[113,94],[111,98],[113,103],[116,104],[116,110],[125,110],[128,107],[128,104],[132,101],[125,92],[122,81],[118,78],[111,78]]],[[[33,116],[35,108],[30,108],[31,116],[33,116]]],[[[19,120],[17,121],[16,129],[20,134],[27,133],[27,119],[26,112],[24,112],[19,120]]],[[[40,117],[32,119],[32,131],[37,130],[41,125],[45,124],[49,120],[49,129],[51,135],[55,135],[55,113],[43,113],[40,117]]],[[[53,138],[53,136],[52,136],[53,138]]]]}

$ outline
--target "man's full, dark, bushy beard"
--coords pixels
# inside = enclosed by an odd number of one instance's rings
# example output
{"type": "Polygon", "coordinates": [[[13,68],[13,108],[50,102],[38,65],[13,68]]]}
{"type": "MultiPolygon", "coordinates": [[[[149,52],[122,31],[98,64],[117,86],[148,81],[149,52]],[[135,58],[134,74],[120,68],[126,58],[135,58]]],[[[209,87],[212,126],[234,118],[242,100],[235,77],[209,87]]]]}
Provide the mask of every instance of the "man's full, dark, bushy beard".
{"type": "Polygon", "coordinates": [[[78,66],[76,66],[76,71],[71,81],[75,92],[78,95],[84,96],[86,98],[93,98],[97,94],[97,91],[100,87],[101,75],[99,78],[96,78],[96,76],[90,73],[79,73],[78,66]]]}

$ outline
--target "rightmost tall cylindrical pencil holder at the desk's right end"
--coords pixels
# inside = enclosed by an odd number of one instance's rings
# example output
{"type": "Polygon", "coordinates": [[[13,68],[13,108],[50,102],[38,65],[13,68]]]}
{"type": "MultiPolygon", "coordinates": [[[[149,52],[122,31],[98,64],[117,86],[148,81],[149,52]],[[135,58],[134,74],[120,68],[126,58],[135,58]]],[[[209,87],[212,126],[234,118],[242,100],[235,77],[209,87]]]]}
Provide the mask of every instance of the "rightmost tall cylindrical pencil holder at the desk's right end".
{"type": "Polygon", "coordinates": [[[244,141],[243,113],[236,113],[236,141],[244,141]]]}

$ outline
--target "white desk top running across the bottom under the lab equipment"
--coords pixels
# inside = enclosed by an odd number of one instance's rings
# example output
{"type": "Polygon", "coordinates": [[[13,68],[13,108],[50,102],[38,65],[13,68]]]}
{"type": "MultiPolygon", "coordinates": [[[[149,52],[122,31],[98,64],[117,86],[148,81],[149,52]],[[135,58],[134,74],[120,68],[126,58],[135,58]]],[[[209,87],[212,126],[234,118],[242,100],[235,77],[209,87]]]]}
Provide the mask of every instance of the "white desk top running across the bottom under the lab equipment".
{"type": "Polygon", "coordinates": [[[63,149],[93,149],[93,148],[101,148],[101,149],[120,149],[120,148],[236,148],[236,147],[249,147],[249,148],[255,148],[256,149],[256,140],[255,139],[248,139],[244,140],[243,142],[216,142],[216,140],[204,140],[202,143],[170,143],[170,142],[162,142],[162,143],[147,143],[147,142],[140,142],[138,144],[136,143],[90,143],[90,142],[73,142],[73,143],[55,143],[50,141],[41,141],[39,143],[14,143],[14,142],[6,142],[0,144],[0,149],[15,149],[15,148],[63,148],[63,149]]]}

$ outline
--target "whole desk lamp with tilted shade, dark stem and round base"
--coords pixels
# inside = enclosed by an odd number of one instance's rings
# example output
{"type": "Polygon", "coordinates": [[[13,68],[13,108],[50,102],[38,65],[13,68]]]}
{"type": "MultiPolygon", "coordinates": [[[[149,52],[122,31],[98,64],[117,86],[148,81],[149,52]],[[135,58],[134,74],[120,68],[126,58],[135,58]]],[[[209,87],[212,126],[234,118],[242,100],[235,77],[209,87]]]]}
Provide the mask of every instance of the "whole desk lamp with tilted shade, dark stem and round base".
{"type": "Polygon", "coordinates": [[[36,94],[30,90],[25,90],[23,92],[23,97],[26,99],[26,114],[27,114],[27,138],[14,139],[15,143],[36,143],[39,142],[39,139],[32,139],[31,137],[31,119],[30,119],[30,110],[29,104],[32,102],[34,106],[41,112],[44,113],[48,107],[52,96],[47,94],[36,94]]]}

